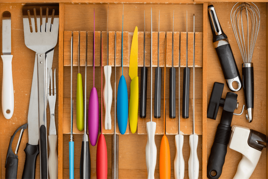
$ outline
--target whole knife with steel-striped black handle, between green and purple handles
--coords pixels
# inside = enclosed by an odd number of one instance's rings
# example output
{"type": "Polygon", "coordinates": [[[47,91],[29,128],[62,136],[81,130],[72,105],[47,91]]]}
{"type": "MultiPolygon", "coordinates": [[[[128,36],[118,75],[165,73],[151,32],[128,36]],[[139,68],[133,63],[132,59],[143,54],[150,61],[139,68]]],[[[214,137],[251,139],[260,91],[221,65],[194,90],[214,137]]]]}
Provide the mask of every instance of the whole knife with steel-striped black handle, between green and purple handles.
{"type": "MultiPolygon", "coordinates": [[[[88,35],[86,36],[86,39],[88,35]]],[[[86,40],[86,54],[88,39],[86,40]]],[[[87,135],[87,57],[85,61],[85,98],[84,98],[84,135],[82,139],[81,155],[80,155],[80,179],[91,178],[91,160],[90,160],[90,148],[87,135]]]]}

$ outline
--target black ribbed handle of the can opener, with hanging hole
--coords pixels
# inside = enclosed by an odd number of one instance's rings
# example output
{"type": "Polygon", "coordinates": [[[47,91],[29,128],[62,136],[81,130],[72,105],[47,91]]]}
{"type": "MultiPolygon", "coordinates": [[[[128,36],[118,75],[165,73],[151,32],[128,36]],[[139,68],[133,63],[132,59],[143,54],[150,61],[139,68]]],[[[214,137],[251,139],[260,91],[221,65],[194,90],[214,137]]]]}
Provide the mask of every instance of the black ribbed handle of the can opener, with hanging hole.
{"type": "Polygon", "coordinates": [[[230,134],[230,126],[224,124],[218,125],[207,163],[207,177],[210,179],[219,178],[221,176],[230,134]]]}

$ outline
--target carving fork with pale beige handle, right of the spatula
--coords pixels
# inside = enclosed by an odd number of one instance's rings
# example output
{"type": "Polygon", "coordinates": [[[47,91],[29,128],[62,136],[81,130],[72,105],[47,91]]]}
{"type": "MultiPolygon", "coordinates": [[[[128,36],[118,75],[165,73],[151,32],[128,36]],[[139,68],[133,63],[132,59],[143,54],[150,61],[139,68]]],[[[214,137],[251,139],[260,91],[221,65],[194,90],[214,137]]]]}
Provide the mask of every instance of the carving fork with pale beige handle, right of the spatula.
{"type": "Polygon", "coordinates": [[[49,126],[49,158],[48,158],[48,167],[49,167],[49,178],[57,179],[58,178],[58,154],[57,154],[57,141],[58,136],[56,133],[56,125],[55,125],[55,104],[56,104],[56,68],[54,70],[54,95],[53,95],[53,73],[52,69],[47,72],[47,81],[49,82],[50,78],[50,89],[49,83],[47,85],[47,99],[49,102],[49,109],[50,109],[50,126],[49,126]],[[49,91],[51,94],[49,95],[49,91]]]}

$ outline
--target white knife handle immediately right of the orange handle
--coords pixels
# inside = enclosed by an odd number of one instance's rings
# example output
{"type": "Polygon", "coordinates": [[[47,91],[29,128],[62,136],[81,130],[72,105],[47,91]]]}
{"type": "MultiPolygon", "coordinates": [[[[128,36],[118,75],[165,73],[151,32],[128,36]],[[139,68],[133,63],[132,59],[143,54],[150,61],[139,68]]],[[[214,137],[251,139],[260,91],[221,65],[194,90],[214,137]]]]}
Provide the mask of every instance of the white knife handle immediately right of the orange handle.
{"type": "Polygon", "coordinates": [[[174,174],[176,179],[183,179],[184,178],[183,135],[178,134],[175,136],[175,146],[176,146],[176,156],[174,160],[174,174]]]}

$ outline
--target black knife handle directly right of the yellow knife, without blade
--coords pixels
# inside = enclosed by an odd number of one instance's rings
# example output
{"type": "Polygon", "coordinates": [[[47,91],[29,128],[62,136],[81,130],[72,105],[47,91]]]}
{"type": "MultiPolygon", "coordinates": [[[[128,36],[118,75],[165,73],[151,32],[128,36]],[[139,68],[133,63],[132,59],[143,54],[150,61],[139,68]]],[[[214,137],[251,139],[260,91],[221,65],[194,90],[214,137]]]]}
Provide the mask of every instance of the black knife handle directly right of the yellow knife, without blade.
{"type": "Polygon", "coordinates": [[[147,103],[147,72],[146,67],[142,67],[140,78],[140,117],[146,118],[146,103],[147,103]]]}

